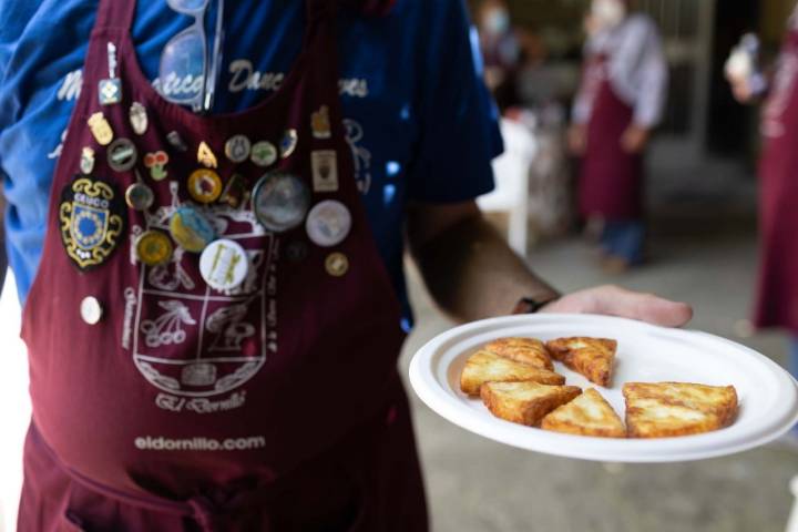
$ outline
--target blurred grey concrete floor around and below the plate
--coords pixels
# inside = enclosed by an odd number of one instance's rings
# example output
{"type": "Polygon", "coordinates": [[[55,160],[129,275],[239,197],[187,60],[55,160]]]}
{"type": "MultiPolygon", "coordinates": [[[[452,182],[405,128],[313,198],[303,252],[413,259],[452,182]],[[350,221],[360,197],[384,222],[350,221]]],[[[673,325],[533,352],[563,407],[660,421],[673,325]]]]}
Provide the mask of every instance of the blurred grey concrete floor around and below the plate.
{"type": "MultiPolygon", "coordinates": [[[[784,362],[784,337],[751,336],[746,320],[756,265],[750,209],[699,197],[676,203],[656,214],[651,264],[625,276],[602,274],[579,238],[539,246],[530,262],[561,290],[615,283],[689,301],[693,328],[784,362]]],[[[418,327],[405,366],[415,349],[450,326],[418,282],[412,298],[418,327]]],[[[778,444],[684,464],[601,464],[493,443],[418,399],[415,411],[437,532],[777,532],[785,530],[794,500],[788,483],[798,474],[798,453],[778,444]]]]}

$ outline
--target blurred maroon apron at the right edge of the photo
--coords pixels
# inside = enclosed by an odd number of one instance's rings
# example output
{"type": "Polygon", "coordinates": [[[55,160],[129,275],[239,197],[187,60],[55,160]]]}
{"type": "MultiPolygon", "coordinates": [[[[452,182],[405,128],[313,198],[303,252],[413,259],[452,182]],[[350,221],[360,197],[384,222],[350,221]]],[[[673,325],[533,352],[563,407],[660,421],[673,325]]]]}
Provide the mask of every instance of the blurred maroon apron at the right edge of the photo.
{"type": "Polygon", "coordinates": [[[798,332],[798,31],[779,58],[763,112],[765,150],[759,167],[759,327],[798,332]]]}

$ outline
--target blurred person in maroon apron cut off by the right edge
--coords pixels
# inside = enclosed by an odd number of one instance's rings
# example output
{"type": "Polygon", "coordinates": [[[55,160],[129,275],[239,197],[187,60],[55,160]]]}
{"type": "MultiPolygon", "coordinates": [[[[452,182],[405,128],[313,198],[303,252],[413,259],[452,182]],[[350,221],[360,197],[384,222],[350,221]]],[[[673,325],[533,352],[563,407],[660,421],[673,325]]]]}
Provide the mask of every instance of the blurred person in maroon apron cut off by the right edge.
{"type": "MultiPolygon", "coordinates": [[[[798,376],[798,7],[769,75],[756,55],[746,60],[746,37],[729,59],[726,76],[740,103],[765,101],[761,113],[764,150],[759,165],[760,266],[755,323],[780,327],[792,335],[789,369],[798,376]],[[743,48],[743,49],[741,49],[743,48]]],[[[798,432],[794,429],[794,436],[798,432]]]]}

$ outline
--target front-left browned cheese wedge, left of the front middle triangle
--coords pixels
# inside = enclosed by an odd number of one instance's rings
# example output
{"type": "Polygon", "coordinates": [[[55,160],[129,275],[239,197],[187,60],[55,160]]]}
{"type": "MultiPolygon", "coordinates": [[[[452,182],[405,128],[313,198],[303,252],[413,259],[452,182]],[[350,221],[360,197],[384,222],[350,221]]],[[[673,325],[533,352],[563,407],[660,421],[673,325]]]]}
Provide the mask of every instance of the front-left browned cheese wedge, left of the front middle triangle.
{"type": "Polygon", "coordinates": [[[480,396],[498,418],[536,427],[543,417],[582,393],[575,386],[549,386],[539,382],[488,382],[480,396]]]}

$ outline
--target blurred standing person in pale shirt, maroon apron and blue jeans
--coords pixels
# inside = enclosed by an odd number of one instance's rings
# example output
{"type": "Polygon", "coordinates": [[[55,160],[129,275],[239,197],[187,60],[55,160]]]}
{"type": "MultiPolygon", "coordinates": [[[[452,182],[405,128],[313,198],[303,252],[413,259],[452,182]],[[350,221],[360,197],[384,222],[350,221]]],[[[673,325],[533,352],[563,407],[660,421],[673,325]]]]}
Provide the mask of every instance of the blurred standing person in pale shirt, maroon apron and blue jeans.
{"type": "Polygon", "coordinates": [[[643,262],[643,155],[663,116],[667,64],[654,21],[628,1],[594,0],[585,29],[569,144],[582,157],[580,212],[601,233],[604,267],[621,272],[643,262]]]}

